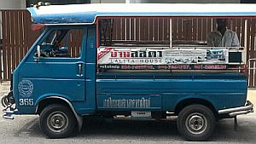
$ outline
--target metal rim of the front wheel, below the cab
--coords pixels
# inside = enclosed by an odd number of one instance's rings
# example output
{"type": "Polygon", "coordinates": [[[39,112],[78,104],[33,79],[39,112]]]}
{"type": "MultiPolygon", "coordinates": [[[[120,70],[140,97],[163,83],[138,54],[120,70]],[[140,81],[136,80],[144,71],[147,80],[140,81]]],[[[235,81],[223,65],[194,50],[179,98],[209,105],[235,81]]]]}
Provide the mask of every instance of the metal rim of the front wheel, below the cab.
{"type": "Polygon", "coordinates": [[[52,112],[47,118],[47,126],[53,132],[61,132],[67,128],[67,114],[61,111],[52,112]]]}

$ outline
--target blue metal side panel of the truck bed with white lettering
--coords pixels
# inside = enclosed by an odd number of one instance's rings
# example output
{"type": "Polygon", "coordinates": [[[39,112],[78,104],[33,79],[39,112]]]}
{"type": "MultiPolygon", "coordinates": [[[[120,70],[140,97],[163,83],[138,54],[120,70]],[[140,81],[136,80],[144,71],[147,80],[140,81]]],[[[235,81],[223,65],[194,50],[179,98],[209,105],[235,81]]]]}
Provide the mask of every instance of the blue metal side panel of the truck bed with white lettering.
{"type": "MultiPolygon", "coordinates": [[[[207,101],[218,111],[244,106],[247,77],[241,73],[97,73],[100,110],[163,110],[174,112],[189,99],[207,101]],[[150,107],[104,106],[104,101],[150,100],[150,107]]],[[[105,103],[106,104],[106,103],[105,103]]]]}

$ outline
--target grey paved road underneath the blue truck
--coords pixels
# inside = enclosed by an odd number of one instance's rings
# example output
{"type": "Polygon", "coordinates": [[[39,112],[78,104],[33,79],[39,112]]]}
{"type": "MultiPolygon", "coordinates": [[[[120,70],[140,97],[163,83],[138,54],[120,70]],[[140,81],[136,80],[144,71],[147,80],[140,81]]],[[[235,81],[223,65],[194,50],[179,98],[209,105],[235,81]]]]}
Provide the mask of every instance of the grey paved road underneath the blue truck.
{"type": "MultiPolygon", "coordinates": [[[[7,87],[0,85],[0,95],[8,91],[7,87]]],[[[0,114],[3,114],[2,111],[0,114]]],[[[177,132],[175,119],[161,122],[98,118],[85,120],[79,134],[53,140],[45,137],[40,130],[38,116],[16,116],[15,120],[0,118],[0,143],[200,143],[184,141],[177,132]]],[[[234,130],[232,119],[219,121],[207,143],[256,143],[256,113],[240,116],[238,121],[238,131],[234,130]]]]}

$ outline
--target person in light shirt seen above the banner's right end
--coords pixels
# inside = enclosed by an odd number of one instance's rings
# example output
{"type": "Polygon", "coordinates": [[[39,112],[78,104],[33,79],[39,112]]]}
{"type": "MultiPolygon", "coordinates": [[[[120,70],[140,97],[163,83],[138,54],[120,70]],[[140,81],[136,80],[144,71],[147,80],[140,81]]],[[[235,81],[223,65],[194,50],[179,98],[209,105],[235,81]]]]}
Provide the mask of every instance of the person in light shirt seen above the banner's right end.
{"type": "Polygon", "coordinates": [[[217,19],[217,29],[207,36],[209,47],[240,47],[236,32],[227,28],[228,20],[217,19]]]}

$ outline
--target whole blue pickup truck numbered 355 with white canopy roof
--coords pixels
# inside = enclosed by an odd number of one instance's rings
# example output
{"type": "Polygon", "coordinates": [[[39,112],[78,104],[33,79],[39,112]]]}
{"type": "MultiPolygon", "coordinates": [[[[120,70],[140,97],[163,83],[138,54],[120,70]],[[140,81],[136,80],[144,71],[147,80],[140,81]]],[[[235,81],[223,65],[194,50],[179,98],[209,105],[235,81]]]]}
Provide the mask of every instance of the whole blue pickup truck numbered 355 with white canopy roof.
{"type": "Polygon", "coordinates": [[[206,141],[218,119],[253,112],[253,104],[247,101],[244,49],[175,46],[172,38],[167,47],[120,43],[108,38],[108,30],[123,18],[150,21],[163,17],[170,21],[172,37],[177,28],[172,20],[177,16],[256,16],[255,5],[232,7],[239,9],[222,11],[212,4],[29,8],[33,27],[44,26],[44,32],[13,73],[11,92],[2,100],[3,118],[38,114],[44,134],[61,138],[80,130],[83,117],[90,115],[122,115],[131,120],[177,116],[177,129],[186,140],[206,141]],[[195,9],[203,7],[213,10],[195,9]]]}

